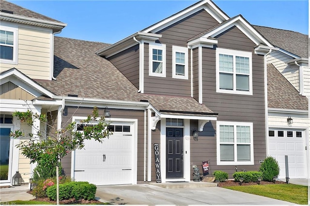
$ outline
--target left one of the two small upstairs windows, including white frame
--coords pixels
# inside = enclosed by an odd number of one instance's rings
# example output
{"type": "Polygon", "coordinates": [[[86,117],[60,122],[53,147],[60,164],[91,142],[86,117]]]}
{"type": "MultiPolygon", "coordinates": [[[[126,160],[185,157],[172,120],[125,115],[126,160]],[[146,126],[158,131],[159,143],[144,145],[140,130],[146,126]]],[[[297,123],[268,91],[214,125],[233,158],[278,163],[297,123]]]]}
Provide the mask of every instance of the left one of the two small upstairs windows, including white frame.
{"type": "Polygon", "coordinates": [[[166,44],[149,44],[149,75],[166,77],[166,44]]]}

